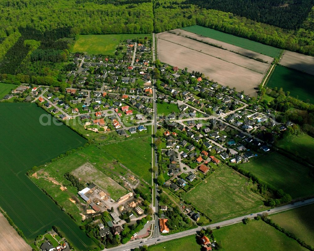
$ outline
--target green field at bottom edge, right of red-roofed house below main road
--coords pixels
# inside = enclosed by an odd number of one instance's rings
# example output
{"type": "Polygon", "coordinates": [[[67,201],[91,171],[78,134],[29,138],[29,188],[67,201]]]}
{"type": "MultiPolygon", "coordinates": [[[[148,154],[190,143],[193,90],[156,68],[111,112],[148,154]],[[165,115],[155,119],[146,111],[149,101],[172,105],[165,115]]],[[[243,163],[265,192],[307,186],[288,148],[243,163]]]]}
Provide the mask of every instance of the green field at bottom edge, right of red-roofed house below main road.
{"type": "Polygon", "coordinates": [[[239,250],[300,250],[306,248],[300,246],[294,239],[287,237],[264,221],[252,220],[248,225],[238,223],[224,226],[214,230],[216,241],[221,245],[222,251],[239,250]]]}

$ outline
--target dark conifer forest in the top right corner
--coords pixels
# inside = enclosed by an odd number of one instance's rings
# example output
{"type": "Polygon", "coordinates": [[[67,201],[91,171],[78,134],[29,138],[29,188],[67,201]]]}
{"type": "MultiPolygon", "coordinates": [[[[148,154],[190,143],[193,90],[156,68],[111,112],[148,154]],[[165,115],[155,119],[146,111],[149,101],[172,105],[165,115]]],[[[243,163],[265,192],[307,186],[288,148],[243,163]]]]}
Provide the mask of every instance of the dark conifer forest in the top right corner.
{"type": "Polygon", "coordinates": [[[186,0],[201,8],[230,12],[284,29],[297,29],[307,18],[313,0],[186,0]]]}

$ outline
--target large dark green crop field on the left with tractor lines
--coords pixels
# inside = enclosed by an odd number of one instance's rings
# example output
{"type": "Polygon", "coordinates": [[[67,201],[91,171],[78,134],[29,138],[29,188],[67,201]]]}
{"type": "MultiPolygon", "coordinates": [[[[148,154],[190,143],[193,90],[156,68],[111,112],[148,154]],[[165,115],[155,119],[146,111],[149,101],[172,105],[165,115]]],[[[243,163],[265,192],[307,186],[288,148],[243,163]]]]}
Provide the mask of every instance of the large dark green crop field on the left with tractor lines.
{"type": "Polygon", "coordinates": [[[63,124],[41,125],[43,114],[52,118],[34,103],[0,103],[0,206],[30,242],[55,225],[77,249],[93,249],[95,243],[25,175],[86,143],[63,124]]]}

